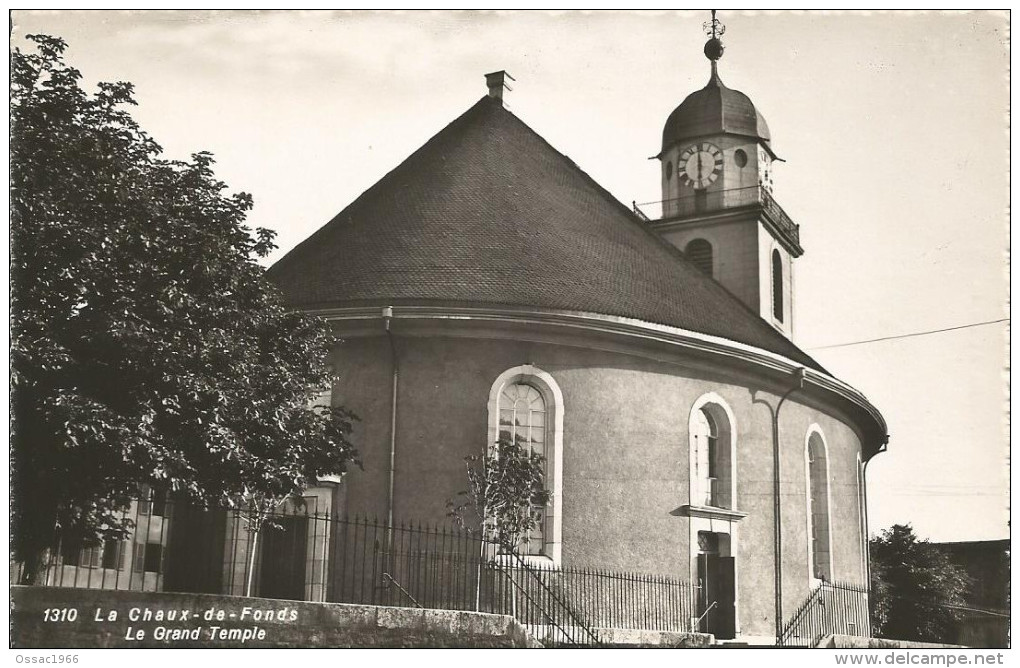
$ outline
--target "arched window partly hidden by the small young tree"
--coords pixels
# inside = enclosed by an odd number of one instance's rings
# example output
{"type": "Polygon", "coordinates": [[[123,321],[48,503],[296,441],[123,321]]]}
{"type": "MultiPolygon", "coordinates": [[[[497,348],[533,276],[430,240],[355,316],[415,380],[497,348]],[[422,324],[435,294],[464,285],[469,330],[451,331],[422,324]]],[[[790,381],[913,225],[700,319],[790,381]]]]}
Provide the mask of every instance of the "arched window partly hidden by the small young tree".
{"type": "Polygon", "coordinates": [[[549,504],[521,546],[537,559],[560,561],[563,486],[563,395],[549,373],[530,364],[500,374],[489,394],[489,443],[510,438],[545,458],[549,504]]]}

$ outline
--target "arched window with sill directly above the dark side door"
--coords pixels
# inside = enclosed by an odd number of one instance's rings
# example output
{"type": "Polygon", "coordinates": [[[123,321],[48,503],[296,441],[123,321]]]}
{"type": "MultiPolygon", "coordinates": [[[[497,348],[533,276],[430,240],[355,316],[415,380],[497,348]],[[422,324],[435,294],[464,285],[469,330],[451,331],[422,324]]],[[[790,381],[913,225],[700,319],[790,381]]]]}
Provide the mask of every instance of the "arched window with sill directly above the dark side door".
{"type": "Polygon", "coordinates": [[[733,507],[733,416],[714,394],[695,403],[691,412],[691,503],[711,508],[733,507]]]}

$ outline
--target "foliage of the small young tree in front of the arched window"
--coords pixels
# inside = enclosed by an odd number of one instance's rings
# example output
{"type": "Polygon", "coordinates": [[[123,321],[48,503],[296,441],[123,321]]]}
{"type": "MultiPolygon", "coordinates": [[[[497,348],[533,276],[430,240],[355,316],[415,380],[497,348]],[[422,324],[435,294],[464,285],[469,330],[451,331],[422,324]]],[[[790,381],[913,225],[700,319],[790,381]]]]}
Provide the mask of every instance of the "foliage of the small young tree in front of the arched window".
{"type": "Polygon", "coordinates": [[[538,526],[539,508],[549,503],[545,458],[525,444],[500,435],[484,455],[464,458],[468,489],[448,502],[450,515],[466,523],[469,514],[486,537],[516,548],[538,526]]]}

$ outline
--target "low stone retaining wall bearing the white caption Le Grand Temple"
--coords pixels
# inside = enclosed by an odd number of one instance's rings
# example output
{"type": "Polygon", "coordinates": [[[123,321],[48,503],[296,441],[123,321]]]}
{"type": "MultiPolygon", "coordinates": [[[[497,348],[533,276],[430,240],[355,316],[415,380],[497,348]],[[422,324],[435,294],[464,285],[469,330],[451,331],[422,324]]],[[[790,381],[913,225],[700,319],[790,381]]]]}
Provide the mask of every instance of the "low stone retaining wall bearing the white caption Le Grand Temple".
{"type": "Polygon", "coordinates": [[[512,617],[207,594],[12,586],[12,648],[534,648],[512,617]]]}

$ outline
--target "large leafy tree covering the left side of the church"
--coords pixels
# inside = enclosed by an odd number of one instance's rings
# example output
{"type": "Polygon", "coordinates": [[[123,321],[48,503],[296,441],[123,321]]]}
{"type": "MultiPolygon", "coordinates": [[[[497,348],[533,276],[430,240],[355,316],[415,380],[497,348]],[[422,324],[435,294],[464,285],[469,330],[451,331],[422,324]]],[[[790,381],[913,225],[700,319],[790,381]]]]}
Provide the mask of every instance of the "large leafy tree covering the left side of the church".
{"type": "MultiPolygon", "coordinates": [[[[354,416],[310,407],[333,375],[321,320],[289,311],[212,157],[160,157],[65,43],[11,55],[12,549],[123,537],[140,483],[259,511],[356,457],[354,416]]],[[[259,511],[261,512],[261,511],[259,511]]]]}

